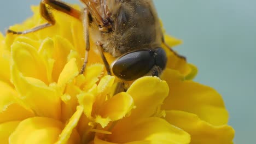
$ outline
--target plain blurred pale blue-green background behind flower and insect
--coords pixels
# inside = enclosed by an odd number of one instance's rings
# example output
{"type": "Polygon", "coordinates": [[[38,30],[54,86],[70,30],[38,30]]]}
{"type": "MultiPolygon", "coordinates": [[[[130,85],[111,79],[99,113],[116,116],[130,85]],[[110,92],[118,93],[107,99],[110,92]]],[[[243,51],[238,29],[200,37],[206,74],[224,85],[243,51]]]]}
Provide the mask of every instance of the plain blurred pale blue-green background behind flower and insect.
{"type": "MultiPolygon", "coordinates": [[[[77,1],[66,1],[78,3],[77,1]]],[[[1,0],[0,30],[31,16],[39,0],[1,0]]],[[[235,143],[256,143],[256,1],[155,1],[177,51],[199,68],[196,81],[223,95],[235,143]]]]}

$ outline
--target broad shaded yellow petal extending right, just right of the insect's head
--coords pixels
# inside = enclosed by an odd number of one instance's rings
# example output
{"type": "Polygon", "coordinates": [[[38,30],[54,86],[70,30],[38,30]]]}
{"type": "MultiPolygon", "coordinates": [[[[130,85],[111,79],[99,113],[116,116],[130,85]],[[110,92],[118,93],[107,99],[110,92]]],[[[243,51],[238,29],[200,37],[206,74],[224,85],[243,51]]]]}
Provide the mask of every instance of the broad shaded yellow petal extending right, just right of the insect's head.
{"type": "Polygon", "coordinates": [[[214,125],[228,123],[228,112],[218,92],[193,81],[183,81],[177,78],[180,75],[174,74],[172,70],[167,69],[162,75],[162,79],[167,81],[170,88],[162,109],[195,113],[203,121],[214,125]]]}

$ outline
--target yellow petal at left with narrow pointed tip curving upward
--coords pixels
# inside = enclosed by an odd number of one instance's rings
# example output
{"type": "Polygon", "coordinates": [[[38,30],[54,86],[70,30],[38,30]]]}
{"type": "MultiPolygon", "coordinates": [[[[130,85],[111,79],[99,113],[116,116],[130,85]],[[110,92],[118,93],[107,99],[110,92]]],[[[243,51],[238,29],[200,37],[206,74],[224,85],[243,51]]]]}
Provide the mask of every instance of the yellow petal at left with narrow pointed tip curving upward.
{"type": "Polygon", "coordinates": [[[11,68],[11,78],[22,100],[36,115],[60,119],[60,93],[55,88],[46,86],[38,79],[24,77],[16,65],[11,68]]]}

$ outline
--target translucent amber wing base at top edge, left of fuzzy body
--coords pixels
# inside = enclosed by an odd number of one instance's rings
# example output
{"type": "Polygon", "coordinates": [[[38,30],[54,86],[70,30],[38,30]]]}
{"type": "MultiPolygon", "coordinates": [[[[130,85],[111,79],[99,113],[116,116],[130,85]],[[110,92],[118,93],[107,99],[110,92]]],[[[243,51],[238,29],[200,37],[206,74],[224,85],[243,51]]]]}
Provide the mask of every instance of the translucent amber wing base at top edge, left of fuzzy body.
{"type": "Polygon", "coordinates": [[[107,0],[81,0],[81,1],[84,2],[89,12],[91,13],[91,15],[95,17],[98,25],[104,26],[104,20],[108,18],[108,13],[109,13],[107,0]]]}

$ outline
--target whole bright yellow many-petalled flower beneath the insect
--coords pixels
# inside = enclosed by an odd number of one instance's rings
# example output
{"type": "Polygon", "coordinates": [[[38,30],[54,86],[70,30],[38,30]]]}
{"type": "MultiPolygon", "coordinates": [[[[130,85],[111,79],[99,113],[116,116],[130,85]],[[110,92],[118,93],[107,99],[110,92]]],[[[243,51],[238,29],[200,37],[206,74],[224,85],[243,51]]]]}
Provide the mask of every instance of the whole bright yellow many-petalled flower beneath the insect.
{"type": "MultiPolygon", "coordinates": [[[[32,10],[33,17],[11,29],[45,22],[38,7],[32,10]]],[[[232,143],[223,100],[192,81],[194,65],[166,50],[161,79],[142,77],[114,95],[118,80],[106,74],[97,51],[90,51],[85,74],[78,74],[85,52],[82,23],[54,15],[56,25],[42,31],[0,34],[2,143],[232,143]]],[[[181,43],[167,35],[166,41],[181,43]]]]}

